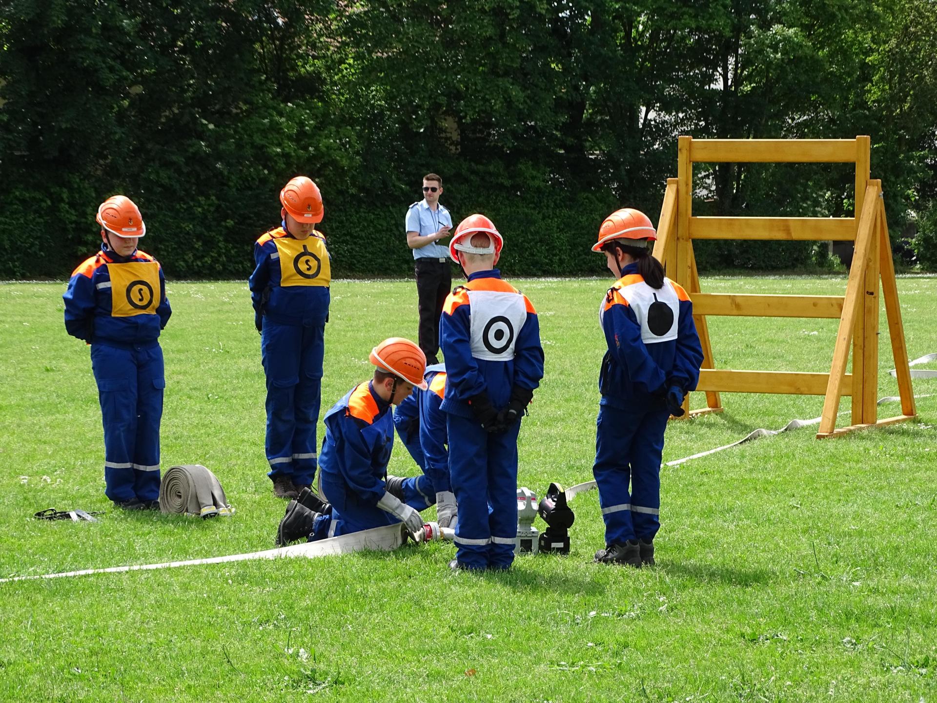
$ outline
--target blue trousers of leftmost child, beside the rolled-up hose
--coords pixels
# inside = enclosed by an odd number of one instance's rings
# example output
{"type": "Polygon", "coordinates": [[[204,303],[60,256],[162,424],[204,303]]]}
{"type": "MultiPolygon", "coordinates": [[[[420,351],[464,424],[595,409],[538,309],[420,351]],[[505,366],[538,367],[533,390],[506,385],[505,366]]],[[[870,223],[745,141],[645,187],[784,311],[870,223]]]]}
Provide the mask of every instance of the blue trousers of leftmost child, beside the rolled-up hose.
{"type": "Polygon", "coordinates": [[[104,425],[104,494],[112,501],[159,498],[163,351],[156,342],[91,345],[104,425]]]}

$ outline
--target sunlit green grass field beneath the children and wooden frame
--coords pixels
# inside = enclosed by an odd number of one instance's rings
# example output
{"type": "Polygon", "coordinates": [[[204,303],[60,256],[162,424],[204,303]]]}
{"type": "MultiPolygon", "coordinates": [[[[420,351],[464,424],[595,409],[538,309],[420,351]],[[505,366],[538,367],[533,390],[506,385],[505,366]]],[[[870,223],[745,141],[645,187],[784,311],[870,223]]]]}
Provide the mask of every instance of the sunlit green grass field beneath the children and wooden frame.
{"type": "MultiPolygon", "coordinates": [[[[519,481],[538,494],[591,478],[596,310],[610,282],[518,281],[546,355],[520,441],[519,481]]],[[[710,277],[704,287],[841,294],[845,280],[710,277]]],[[[937,352],[937,278],[902,277],[899,289],[912,358],[937,352]]],[[[245,284],[169,285],[163,467],[216,472],[237,515],[207,521],[106,501],[97,390],[88,348],[62,324],[64,290],[0,286],[0,577],[273,546],[284,502],[265,476],[245,284]],[[47,507],[108,512],[97,524],[32,517],[47,507]]],[[[337,281],[333,294],[323,411],[368,376],[376,341],[416,335],[412,281],[337,281]]],[[[836,324],[721,318],[710,329],[719,366],[828,371],[836,324]]],[[[886,339],[880,396],[897,393],[886,339]]],[[[937,394],[937,381],[915,392],[937,394]]],[[[723,404],[721,415],[672,423],[664,459],[814,417],[822,398],[723,404]]],[[[934,700],[937,397],[918,411],[915,423],[835,441],[801,429],[665,469],[653,569],[590,562],[602,546],[593,492],[572,503],[568,558],[519,558],[507,574],[452,574],[454,547],[433,544],[0,584],[0,698],[934,700]]],[[[391,471],[416,471],[399,442],[391,471]]]]}

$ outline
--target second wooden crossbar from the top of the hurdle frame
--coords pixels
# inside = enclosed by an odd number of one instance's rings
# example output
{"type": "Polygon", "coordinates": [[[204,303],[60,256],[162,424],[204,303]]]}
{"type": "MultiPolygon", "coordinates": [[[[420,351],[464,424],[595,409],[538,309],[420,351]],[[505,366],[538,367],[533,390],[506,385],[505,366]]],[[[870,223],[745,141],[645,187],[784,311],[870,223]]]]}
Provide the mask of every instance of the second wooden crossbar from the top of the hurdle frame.
{"type": "Polygon", "coordinates": [[[855,217],[691,217],[692,239],[852,242],[855,217]]]}

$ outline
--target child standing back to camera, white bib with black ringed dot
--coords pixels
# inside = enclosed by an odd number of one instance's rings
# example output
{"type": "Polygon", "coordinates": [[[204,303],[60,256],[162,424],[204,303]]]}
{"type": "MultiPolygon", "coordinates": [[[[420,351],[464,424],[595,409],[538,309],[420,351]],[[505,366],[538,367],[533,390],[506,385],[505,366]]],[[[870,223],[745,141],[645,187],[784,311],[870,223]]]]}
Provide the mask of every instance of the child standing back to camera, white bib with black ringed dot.
{"type": "Polygon", "coordinates": [[[449,245],[468,277],[446,298],[440,323],[446,357],[449,471],[458,523],[457,569],[507,569],[517,536],[517,434],[543,378],[537,312],[494,268],[502,238],[471,215],[449,245]]]}

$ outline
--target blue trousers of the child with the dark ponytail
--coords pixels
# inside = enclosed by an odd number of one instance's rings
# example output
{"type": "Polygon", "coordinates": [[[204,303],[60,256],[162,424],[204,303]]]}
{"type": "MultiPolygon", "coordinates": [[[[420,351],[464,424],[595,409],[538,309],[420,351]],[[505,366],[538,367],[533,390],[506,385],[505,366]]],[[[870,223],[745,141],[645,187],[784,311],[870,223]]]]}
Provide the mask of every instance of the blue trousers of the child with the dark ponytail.
{"type": "Polygon", "coordinates": [[[661,457],[669,417],[665,408],[599,409],[592,474],[599,486],[606,545],[653,539],[661,527],[661,457]]]}

